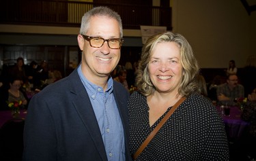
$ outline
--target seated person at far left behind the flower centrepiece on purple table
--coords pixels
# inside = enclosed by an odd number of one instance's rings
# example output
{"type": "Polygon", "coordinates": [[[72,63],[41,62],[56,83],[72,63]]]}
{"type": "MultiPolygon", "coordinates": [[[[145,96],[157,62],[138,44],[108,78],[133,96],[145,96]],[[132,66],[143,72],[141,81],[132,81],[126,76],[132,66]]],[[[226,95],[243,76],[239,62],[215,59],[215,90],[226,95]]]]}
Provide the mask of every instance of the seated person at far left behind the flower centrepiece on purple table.
{"type": "Polygon", "coordinates": [[[22,80],[19,78],[10,78],[10,88],[8,90],[8,103],[12,103],[14,101],[22,101],[22,105],[27,105],[27,99],[20,91],[20,87],[22,86],[22,80]]]}

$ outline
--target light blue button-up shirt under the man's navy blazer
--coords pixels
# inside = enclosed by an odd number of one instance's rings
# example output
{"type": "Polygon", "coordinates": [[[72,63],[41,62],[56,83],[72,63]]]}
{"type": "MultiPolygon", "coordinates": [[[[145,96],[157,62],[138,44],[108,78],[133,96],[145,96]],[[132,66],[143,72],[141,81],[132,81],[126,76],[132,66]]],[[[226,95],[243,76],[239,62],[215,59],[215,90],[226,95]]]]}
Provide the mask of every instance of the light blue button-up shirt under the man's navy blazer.
{"type": "Polygon", "coordinates": [[[108,160],[125,160],[124,128],[115,102],[113,79],[109,78],[104,92],[102,87],[96,86],[86,79],[81,65],[78,68],[78,73],[94,109],[108,160]]]}

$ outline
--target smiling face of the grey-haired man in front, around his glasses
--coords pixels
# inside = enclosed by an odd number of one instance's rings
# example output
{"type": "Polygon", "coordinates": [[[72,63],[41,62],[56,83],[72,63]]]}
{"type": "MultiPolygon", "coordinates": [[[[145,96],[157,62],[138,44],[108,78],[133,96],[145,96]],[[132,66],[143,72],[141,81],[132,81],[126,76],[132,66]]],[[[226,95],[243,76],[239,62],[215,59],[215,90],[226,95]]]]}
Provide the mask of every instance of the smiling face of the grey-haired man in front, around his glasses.
{"type": "MultiPolygon", "coordinates": [[[[120,38],[117,20],[107,16],[93,16],[90,20],[89,37],[102,37],[103,39],[120,38]]],[[[120,59],[120,49],[111,49],[107,41],[100,48],[90,46],[89,41],[78,36],[79,48],[83,50],[82,71],[90,82],[95,83],[99,77],[109,77],[120,59]]]]}

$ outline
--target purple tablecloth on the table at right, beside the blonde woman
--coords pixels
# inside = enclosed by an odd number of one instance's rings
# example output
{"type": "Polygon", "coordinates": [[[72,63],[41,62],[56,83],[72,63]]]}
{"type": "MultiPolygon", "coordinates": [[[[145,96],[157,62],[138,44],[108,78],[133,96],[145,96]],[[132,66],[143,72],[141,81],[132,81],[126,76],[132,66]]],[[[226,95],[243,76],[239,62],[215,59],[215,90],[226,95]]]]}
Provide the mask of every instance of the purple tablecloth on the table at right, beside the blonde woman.
{"type": "MultiPolygon", "coordinates": [[[[221,113],[220,107],[216,107],[218,112],[221,113]]],[[[238,107],[230,107],[230,115],[221,115],[223,122],[225,123],[225,128],[227,135],[230,139],[240,139],[246,127],[250,124],[241,120],[240,115],[242,111],[238,107]]]]}

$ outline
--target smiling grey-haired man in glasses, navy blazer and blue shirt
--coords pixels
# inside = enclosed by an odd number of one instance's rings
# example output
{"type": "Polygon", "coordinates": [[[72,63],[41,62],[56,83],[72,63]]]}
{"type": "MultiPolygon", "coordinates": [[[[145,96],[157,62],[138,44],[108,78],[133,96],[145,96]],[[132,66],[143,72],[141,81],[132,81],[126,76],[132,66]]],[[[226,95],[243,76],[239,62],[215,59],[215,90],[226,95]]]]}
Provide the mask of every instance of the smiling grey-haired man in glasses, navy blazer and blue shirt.
{"type": "Polygon", "coordinates": [[[122,20],[108,7],[85,13],[81,65],[33,96],[23,160],[130,160],[128,92],[110,76],[120,58],[122,20]]]}

